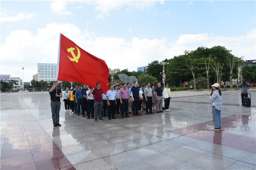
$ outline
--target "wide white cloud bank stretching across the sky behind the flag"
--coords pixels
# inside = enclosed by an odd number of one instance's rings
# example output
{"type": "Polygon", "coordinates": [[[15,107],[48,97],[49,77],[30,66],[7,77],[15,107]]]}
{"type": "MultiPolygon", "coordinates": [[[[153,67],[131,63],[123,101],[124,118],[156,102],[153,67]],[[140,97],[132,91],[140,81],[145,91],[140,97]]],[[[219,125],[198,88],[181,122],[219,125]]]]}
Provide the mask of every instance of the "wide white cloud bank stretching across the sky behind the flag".
{"type": "Polygon", "coordinates": [[[28,82],[37,73],[37,63],[57,63],[60,33],[85,51],[105,60],[108,67],[128,68],[130,71],[146,66],[153,60],[169,59],[200,46],[225,46],[232,50],[233,55],[244,56],[245,60],[255,59],[256,51],[255,30],[239,37],[205,33],[180,35],[178,40],[138,37],[125,40],[122,37],[99,37],[69,23],[50,23],[38,29],[36,35],[28,30],[16,30],[6,38],[5,44],[0,45],[1,74],[22,77],[21,69],[24,67],[24,79],[28,82]]]}

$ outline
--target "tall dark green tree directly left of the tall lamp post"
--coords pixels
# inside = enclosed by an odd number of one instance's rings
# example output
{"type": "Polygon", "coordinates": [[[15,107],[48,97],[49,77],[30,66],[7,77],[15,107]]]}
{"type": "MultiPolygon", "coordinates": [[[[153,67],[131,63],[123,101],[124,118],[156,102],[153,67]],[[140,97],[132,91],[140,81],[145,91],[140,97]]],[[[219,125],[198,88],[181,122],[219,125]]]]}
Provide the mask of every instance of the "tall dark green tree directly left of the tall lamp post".
{"type": "Polygon", "coordinates": [[[155,60],[148,63],[146,74],[152,75],[158,82],[162,81],[162,76],[160,74],[161,72],[163,72],[163,66],[159,63],[159,61],[155,60]]]}

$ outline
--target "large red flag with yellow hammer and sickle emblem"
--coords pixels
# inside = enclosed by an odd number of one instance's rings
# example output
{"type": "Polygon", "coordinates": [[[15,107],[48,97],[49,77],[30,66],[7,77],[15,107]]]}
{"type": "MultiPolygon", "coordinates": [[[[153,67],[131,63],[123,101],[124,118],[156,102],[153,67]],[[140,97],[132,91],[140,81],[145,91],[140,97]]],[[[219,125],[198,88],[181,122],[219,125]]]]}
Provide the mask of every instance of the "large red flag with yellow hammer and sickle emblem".
{"type": "Polygon", "coordinates": [[[108,66],[104,60],[84,51],[73,41],[60,33],[57,80],[79,82],[101,89],[106,94],[108,88],[108,66]]]}

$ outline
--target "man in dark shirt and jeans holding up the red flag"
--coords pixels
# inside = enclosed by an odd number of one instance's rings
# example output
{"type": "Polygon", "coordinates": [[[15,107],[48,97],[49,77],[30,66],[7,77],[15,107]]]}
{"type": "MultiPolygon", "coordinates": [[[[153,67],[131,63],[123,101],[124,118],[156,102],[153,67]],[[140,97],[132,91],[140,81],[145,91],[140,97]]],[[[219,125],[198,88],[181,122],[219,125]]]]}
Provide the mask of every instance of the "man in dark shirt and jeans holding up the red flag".
{"type": "Polygon", "coordinates": [[[58,83],[52,82],[52,88],[49,89],[51,96],[52,122],[53,126],[61,126],[60,122],[60,98],[62,97],[61,90],[57,88],[58,83]],[[57,90],[57,92],[56,92],[57,90]]]}

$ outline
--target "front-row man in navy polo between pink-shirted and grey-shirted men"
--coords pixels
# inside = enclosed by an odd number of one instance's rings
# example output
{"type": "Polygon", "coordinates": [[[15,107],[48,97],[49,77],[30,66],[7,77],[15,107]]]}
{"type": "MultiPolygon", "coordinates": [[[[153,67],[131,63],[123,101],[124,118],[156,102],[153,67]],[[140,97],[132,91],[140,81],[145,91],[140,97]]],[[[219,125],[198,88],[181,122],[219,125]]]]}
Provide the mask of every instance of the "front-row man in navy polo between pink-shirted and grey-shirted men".
{"type": "Polygon", "coordinates": [[[134,86],[131,88],[131,95],[132,95],[132,111],[133,115],[140,115],[138,112],[139,101],[140,101],[140,88],[138,81],[134,81],[134,86]]]}

